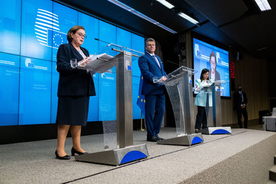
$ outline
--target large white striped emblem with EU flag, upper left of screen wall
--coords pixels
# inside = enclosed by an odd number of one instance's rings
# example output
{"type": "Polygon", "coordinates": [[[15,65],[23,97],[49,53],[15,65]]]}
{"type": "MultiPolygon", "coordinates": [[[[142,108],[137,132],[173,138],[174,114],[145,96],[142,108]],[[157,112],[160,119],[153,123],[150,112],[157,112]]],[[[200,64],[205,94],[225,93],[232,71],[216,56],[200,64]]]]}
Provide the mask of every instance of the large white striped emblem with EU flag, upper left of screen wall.
{"type": "Polygon", "coordinates": [[[34,24],[37,41],[50,48],[59,48],[67,43],[67,34],[59,30],[59,16],[47,10],[37,9],[37,19],[34,24]]]}

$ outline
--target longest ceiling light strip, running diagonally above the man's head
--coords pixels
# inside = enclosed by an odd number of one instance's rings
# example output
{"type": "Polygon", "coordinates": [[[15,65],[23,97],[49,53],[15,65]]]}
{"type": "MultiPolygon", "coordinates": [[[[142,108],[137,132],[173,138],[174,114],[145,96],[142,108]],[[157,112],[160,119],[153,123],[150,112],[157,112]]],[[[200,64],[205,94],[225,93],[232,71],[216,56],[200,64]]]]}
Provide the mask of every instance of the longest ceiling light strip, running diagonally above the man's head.
{"type": "Polygon", "coordinates": [[[131,12],[132,14],[135,14],[137,15],[138,17],[141,17],[142,19],[145,19],[146,21],[149,21],[157,26],[159,26],[160,28],[163,28],[164,30],[167,30],[168,32],[171,32],[172,34],[175,34],[177,33],[176,31],[166,27],[166,25],[163,25],[157,21],[155,21],[154,19],[151,19],[150,17],[146,16],[145,14],[142,14],[141,12],[138,12],[137,10],[131,8],[130,6],[127,6],[126,4],[124,3],[121,3],[120,1],[117,1],[117,0],[108,0],[110,3],[114,3],[115,5],[125,9],[125,10],[128,10],[128,12],[131,12]]]}

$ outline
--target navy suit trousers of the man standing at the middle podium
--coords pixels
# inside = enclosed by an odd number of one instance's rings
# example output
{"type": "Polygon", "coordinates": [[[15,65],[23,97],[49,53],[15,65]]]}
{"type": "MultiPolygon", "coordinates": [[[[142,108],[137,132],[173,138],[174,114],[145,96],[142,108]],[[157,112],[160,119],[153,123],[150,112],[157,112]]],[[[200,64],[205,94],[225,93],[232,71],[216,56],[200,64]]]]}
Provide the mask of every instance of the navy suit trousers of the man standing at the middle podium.
{"type": "Polygon", "coordinates": [[[147,136],[159,134],[165,112],[165,94],[145,95],[147,136]]]}

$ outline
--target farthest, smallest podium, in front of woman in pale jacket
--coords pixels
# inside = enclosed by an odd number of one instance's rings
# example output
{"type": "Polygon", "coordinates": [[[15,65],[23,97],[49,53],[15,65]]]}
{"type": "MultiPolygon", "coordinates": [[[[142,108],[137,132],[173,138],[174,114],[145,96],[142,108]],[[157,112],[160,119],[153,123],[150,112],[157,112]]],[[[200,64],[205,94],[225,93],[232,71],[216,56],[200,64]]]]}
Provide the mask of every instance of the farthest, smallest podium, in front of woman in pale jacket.
{"type": "Polygon", "coordinates": [[[221,127],[221,81],[215,81],[201,89],[206,93],[207,128],[199,130],[202,134],[231,134],[231,127],[221,127]]]}

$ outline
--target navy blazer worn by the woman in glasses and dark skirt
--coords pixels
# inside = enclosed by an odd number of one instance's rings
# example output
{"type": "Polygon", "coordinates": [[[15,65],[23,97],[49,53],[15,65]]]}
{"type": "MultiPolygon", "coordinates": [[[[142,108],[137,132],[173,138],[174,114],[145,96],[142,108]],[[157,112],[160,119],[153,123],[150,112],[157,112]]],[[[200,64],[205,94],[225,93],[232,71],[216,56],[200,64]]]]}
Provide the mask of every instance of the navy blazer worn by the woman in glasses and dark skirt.
{"type": "MultiPolygon", "coordinates": [[[[83,54],[89,57],[89,52],[81,48],[83,54]]],[[[57,72],[59,72],[59,86],[57,96],[95,96],[94,81],[90,72],[71,68],[70,59],[83,60],[81,54],[72,43],[59,46],[57,51],[57,72]]]]}

